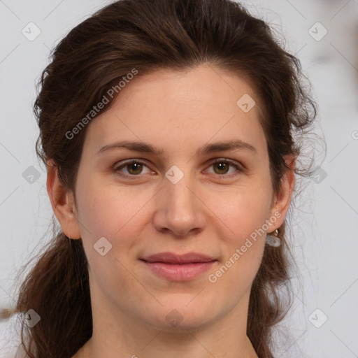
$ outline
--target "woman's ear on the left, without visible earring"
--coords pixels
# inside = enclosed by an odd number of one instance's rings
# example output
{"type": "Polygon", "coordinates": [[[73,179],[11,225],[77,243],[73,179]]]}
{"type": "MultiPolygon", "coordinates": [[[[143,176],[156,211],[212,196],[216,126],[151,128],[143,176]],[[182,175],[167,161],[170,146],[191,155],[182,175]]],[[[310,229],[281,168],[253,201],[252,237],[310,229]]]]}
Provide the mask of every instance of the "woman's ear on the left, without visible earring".
{"type": "Polygon", "coordinates": [[[48,196],[62,231],[69,238],[81,238],[73,194],[59,181],[57,165],[53,160],[47,162],[47,172],[48,196]]]}

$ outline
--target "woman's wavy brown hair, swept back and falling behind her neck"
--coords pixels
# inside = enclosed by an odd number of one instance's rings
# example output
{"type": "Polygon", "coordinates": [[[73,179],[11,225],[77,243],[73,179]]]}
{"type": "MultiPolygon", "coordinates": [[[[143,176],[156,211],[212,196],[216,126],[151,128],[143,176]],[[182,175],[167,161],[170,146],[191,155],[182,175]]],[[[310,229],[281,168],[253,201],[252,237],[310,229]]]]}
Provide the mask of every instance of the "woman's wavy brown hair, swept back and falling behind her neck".
{"type": "MultiPolygon", "coordinates": [[[[69,131],[86,117],[113,85],[133,69],[191,69],[199,64],[247,76],[263,103],[271,179],[275,193],[285,171],[282,156],[301,154],[303,136],[316,105],[303,85],[299,59],[283,50],[268,24],[230,0],[121,0],[73,28],[52,51],[34,103],[40,136],[36,152],[52,159],[62,184],[73,192],[86,129],[69,131]]],[[[117,93],[109,99],[110,107],[117,93]]],[[[107,96],[108,98],[108,96],[107,96]]],[[[305,175],[308,169],[294,169],[305,175]]],[[[252,284],[248,338],[260,358],[271,358],[272,329],[287,312],[279,291],[289,282],[291,260],[282,245],[266,245],[252,284]]],[[[22,324],[22,345],[31,358],[72,357],[92,336],[87,259],[81,240],[62,231],[36,257],[22,282],[15,311],[33,309],[41,321],[22,324]],[[25,341],[27,334],[28,343],[25,341]],[[26,343],[26,344],[25,344],[26,343]]]]}

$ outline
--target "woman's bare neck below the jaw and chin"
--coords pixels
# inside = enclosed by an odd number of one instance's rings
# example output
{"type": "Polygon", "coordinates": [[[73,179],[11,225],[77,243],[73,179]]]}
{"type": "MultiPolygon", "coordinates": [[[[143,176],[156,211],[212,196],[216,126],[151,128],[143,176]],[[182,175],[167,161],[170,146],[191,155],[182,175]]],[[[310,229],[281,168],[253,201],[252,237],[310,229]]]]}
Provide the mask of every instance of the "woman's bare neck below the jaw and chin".
{"type": "Polygon", "coordinates": [[[168,327],[160,320],[163,312],[144,320],[142,313],[123,310],[98,287],[91,288],[92,337],[73,358],[259,358],[246,335],[250,290],[233,309],[205,324],[188,310],[187,324],[182,320],[178,327],[168,327]]]}

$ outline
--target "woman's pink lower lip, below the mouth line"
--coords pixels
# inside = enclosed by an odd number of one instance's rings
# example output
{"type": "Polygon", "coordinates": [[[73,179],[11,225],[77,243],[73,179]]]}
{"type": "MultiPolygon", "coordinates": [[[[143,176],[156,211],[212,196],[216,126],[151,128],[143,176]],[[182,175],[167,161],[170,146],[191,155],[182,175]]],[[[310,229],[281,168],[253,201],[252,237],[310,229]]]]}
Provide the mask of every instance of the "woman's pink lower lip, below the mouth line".
{"type": "Polygon", "coordinates": [[[164,264],[164,262],[144,262],[157,275],[172,281],[187,281],[202,275],[215,261],[196,264],[164,264]]]}

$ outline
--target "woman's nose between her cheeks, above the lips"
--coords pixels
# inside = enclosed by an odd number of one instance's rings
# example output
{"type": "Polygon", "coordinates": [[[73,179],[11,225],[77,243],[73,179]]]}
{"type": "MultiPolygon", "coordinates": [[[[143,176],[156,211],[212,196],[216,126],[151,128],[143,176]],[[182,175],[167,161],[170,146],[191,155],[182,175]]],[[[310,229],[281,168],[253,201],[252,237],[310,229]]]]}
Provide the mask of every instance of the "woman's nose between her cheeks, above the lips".
{"type": "Polygon", "coordinates": [[[206,206],[200,196],[189,175],[176,184],[164,178],[164,187],[156,196],[155,229],[179,238],[199,234],[206,224],[206,206]]]}

